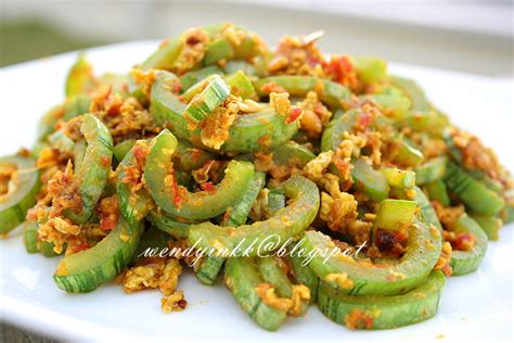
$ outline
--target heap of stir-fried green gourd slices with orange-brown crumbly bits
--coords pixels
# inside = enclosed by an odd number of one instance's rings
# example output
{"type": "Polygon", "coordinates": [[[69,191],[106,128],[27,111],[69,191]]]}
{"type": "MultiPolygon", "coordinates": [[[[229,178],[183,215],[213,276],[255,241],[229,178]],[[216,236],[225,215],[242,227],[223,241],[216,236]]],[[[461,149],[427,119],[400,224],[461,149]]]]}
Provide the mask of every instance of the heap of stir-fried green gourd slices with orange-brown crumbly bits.
{"type": "Polygon", "coordinates": [[[158,289],[165,313],[190,268],[266,330],[311,304],[349,329],[433,317],[513,220],[512,178],[413,80],[321,37],[195,27],[123,75],[81,54],[0,158],[0,232],[61,256],[65,292],[158,289]]]}

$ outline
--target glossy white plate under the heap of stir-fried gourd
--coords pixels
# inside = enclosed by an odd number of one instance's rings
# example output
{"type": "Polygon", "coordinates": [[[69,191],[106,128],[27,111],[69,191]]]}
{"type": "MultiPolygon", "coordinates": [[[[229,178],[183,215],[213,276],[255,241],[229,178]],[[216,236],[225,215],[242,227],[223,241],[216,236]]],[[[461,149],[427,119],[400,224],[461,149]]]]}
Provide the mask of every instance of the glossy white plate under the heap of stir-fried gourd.
{"type": "MultiPolygon", "coordinates": [[[[125,72],[142,61],[156,42],[134,42],[92,49],[98,72],[125,72]]],[[[63,100],[66,72],[76,53],[0,71],[0,155],[30,147],[36,120],[63,100]]],[[[413,66],[391,67],[416,78],[428,96],[460,125],[479,134],[514,170],[512,158],[512,81],[413,66]]],[[[126,295],[108,284],[91,294],[66,294],[55,288],[57,258],[28,255],[22,232],[0,241],[2,320],[62,339],[108,340],[156,338],[213,340],[512,340],[513,227],[489,245],[479,270],[447,282],[439,314],[425,322],[388,331],[349,331],[325,319],[316,307],[300,319],[287,319],[279,332],[258,328],[222,285],[204,287],[187,272],[180,280],[189,302],[182,313],[160,312],[158,292],[126,295]]]]}

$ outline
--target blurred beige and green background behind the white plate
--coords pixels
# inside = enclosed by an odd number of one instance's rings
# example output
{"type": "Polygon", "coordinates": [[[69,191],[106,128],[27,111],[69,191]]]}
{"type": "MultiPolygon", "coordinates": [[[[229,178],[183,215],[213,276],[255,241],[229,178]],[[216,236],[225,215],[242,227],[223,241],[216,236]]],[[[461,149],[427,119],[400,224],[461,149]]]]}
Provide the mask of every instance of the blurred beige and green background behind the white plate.
{"type": "Polygon", "coordinates": [[[513,76],[513,2],[0,0],[0,66],[184,28],[240,23],[274,43],[323,29],[327,52],[513,76]]]}

